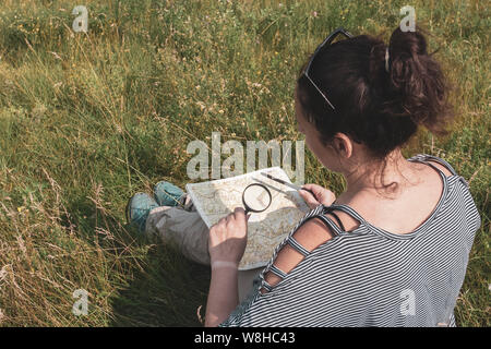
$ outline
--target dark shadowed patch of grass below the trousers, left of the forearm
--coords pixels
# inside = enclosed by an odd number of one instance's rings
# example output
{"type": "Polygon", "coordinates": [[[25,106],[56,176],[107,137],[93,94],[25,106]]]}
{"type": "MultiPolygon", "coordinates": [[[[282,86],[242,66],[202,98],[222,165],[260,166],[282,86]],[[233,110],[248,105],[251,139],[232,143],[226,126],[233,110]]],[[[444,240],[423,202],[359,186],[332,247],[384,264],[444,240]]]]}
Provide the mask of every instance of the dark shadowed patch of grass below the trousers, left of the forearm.
{"type": "Polygon", "coordinates": [[[152,245],[131,281],[112,298],[111,326],[202,326],[209,267],[193,263],[170,245],[152,245]]]}

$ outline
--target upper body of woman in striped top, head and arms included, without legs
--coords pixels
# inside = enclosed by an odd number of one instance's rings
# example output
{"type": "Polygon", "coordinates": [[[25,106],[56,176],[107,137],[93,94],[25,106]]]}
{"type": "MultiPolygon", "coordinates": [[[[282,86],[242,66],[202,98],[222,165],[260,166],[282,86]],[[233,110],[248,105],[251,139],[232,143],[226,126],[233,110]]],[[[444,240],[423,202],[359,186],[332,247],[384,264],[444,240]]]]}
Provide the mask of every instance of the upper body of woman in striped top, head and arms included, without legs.
{"type": "Polygon", "coordinates": [[[397,28],[386,46],[337,29],[303,65],[295,99],[307,145],[347,189],[336,198],[304,185],[312,210],[241,304],[247,217],[236,208],[213,226],[205,325],[455,326],[480,217],[446,161],[400,152],[420,124],[444,134],[451,116],[423,35],[397,28]]]}

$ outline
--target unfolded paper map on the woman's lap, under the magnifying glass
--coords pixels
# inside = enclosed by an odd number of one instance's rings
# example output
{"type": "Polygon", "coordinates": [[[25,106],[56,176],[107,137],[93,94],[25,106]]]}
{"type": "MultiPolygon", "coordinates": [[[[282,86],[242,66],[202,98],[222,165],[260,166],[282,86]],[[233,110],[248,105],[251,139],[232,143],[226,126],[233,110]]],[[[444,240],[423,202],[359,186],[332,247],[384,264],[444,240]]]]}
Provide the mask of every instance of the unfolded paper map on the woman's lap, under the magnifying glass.
{"type": "Polygon", "coordinates": [[[272,202],[267,209],[250,213],[248,244],[239,264],[241,270],[265,266],[274,249],[309,212],[296,190],[261,176],[261,172],[291,183],[282,168],[271,167],[237,177],[185,185],[185,191],[208,228],[236,207],[243,207],[242,193],[249,184],[261,183],[270,189],[272,202]]]}

